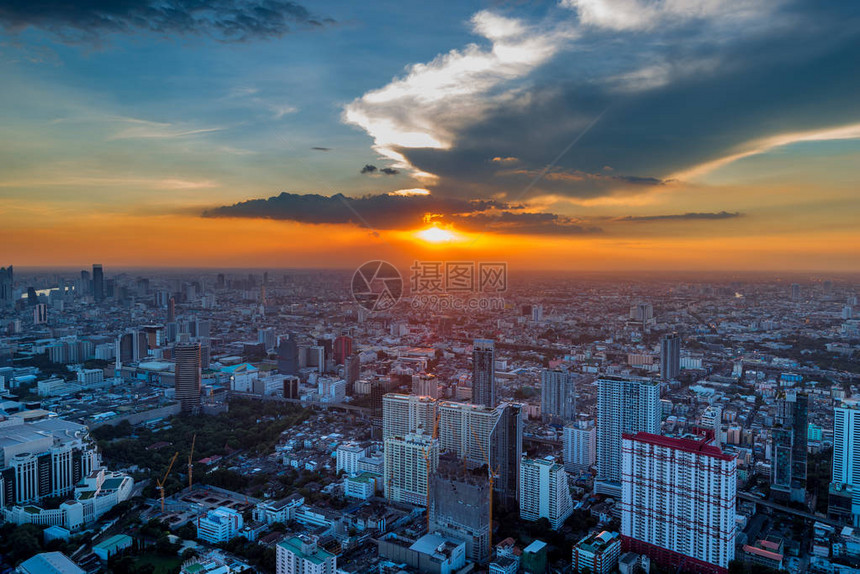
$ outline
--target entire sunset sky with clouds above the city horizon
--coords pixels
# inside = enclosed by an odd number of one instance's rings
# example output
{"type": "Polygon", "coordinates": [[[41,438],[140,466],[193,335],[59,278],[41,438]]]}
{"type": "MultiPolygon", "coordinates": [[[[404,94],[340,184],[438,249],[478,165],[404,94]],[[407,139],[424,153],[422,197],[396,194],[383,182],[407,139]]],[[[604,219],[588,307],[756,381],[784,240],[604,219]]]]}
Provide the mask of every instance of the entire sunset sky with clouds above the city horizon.
{"type": "Polygon", "coordinates": [[[6,0],[4,265],[855,272],[853,0],[6,0]]]}

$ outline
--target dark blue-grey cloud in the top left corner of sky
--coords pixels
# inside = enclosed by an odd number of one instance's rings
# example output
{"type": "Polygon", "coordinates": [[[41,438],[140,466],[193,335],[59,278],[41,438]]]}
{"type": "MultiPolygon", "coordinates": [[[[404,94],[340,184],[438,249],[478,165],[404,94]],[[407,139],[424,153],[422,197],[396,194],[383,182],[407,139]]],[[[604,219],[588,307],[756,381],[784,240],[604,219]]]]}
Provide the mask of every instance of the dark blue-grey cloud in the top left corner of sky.
{"type": "Polygon", "coordinates": [[[40,28],[65,41],[112,32],[204,35],[222,41],[277,38],[294,28],[329,24],[287,0],[5,0],[0,27],[40,28]]]}

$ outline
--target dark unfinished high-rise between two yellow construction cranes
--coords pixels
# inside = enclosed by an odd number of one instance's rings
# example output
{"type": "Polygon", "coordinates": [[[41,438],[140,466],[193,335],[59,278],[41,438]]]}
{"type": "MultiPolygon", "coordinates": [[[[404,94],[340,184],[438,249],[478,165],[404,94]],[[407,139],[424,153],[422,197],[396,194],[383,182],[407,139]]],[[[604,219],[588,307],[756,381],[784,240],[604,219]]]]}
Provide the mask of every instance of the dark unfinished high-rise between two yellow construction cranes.
{"type": "Polygon", "coordinates": [[[484,474],[440,461],[430,477],[430,532],[466,542],[466,555],[478,564],[490,558],[490,483],[484,474]]]}

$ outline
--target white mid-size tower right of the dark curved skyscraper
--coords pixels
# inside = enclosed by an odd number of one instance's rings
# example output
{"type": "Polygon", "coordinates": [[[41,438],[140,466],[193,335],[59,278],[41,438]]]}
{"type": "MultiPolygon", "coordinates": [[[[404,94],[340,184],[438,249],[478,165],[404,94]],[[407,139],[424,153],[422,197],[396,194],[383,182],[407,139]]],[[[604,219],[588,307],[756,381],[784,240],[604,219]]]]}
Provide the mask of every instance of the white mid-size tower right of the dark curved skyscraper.
{"type": "Polygon", "coordinates": [[[549,520],[558,530],[573,513],[567,473],[551,456],[524,458],[520,464],[520,518],[549,520]]]}

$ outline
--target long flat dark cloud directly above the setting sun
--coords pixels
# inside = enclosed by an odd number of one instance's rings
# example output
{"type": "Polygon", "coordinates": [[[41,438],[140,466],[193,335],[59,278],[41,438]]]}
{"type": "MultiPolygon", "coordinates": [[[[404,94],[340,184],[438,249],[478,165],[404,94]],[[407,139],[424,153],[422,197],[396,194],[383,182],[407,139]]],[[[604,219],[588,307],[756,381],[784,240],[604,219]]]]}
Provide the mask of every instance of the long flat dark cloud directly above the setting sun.
{"type": "Polygon", "coordinates": [[[600,230],[553,213],[523,213],[522,205],[494,200],[437,198],[429,195],[281,193],[218,207],[204,217],[265,218],[313,224],[353,224],[376,229],[414,229],[428,222],[456,224],[469,231],[541,235],[597,233],[600,230]]]}

